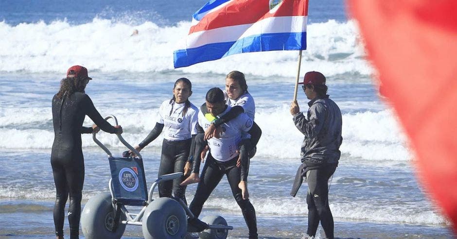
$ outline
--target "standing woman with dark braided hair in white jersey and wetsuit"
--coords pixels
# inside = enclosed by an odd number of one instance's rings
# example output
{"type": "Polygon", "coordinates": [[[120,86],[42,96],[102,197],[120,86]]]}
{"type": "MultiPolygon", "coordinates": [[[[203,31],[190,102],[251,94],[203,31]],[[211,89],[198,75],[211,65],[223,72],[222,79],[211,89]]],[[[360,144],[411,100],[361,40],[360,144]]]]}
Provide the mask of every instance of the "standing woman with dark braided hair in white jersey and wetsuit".
{"type": "MultiPolygon", "coordinates": [[[[162,142],[162,154],[158,176],[183,172],[184,167],[190,168],[187,163],[191,143],[197,134],[198,108],[190,101],[192,95],[192,83],[187,78],[179,78],[173,87],[173,98],[164,101],[158,110],[158,120],[154,129],[149,135],[135,147],[139,152],[156,139],[162,130],[164,139],[162,142]]],[[[158,193],[160,197],[171,197],[172,192],[176,198],[181,199],[185,204],[186,186],[179,184],[184,180],[185,175],[172,181],[160,182],[158,193]]]]}

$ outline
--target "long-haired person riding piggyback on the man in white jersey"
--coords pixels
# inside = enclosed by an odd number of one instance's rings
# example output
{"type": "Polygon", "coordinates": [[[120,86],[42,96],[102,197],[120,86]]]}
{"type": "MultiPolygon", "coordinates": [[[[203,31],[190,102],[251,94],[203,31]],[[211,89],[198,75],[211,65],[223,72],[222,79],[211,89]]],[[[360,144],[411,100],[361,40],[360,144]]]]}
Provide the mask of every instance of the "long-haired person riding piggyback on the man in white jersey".
{"type": "MultiPolygon", "coordinates": [[[[240,71],[231,71],[226,76],[225,91],[224,91],[225,102],[232,108],[227,114],[221,117],[214,117],[208,111],[206,103],[204,103],[200,109],[203,115],[211,121],[210,126],[205,131],[204,135],[197,135],[195,137],[195,155],[191,155],[193,158],[200,160],[201,155],[206,155],[208,146],[201,148],[203,140],[208,140],[211,137],[219,137],[221,133],[221,125],[225,122],[235,119],[239,114],[246,113],[246,115],[254,121],[255,116],[255,102],[251,94],[247,91],[247,84],[245,74],[240,71]],[[200,148],[199,148],[200,147],[200,148]],[[203,152],[202,152],[203,150],[203,152]],[[200,152],[202,152],[200,154],[200,152]]],[[[247,190],[247,175],[249,172],[249,159],[254,156],[256,147],[250,145],[250,135],[243,133],[241,142],[239,143],[239,160],[237,166],[241,167],[241,181],[238,187],[242,190],[243,199],[249,198],[247,190]],[[251,149],[250,152],[246,148],[251,149]]],[[[199,169],[199,167],[197,167],[199,169]]],[[[198,177],[199,171],[192,171],[188,179],[183,184],[197,183],[200,181],[198,177]]]]}

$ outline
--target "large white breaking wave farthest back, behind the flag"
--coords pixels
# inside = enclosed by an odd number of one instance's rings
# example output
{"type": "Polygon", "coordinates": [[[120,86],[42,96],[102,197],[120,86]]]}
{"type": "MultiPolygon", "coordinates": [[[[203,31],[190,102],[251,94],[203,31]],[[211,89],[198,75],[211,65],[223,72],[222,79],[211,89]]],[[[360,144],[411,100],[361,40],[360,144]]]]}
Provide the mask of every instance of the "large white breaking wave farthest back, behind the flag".
{"type": "MultiPolygon", "coordinates": [[[[0,71],[60,72],[70,65],[89,66],[92,72],[166,71],[173,69],[176,43],[190,28],[190,22],[159,27],[154,22],[128,25],[108,19],[71,25],[66,21],[21,23],[0,22],[0,71]],[[138,35],[130,36],[133,29],[138,35]]],[[[325,71],[369,75],[363,47],[353,20],[329,20],[307,27],[302,72],[325,71]]],[[[227,58],[181,68],[187,73],[226,74],[234,68],[260,76],[295,76],[297,51],[237,54],[227,58]],[[240,64],[242,63],[242,64],[240,64]]]]}

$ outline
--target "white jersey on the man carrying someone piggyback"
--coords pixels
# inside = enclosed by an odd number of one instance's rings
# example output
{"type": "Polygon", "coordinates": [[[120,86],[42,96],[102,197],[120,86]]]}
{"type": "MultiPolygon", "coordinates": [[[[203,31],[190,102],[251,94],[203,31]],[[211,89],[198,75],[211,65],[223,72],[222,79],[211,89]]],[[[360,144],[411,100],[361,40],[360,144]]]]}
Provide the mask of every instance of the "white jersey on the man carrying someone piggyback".
{"type": "MultiPolygon", "coordinates": [[[[230,109],[231,107],[227,106],[227,109],[219,117],[225,115],[230,109]]],[[[201,112],[198,113],[198,123],[204,130],[208,129],[211,124],[201,112]]],[[[229,122],[223,123],[221,125],[220,138],[212,137],[208,139],[212,157],[217,161],[226,162],[238,155],[236,150],[238,150],[241,136],[251,129],[252,124],[253,121],[245,113],[240,114],[229,122]]]]}

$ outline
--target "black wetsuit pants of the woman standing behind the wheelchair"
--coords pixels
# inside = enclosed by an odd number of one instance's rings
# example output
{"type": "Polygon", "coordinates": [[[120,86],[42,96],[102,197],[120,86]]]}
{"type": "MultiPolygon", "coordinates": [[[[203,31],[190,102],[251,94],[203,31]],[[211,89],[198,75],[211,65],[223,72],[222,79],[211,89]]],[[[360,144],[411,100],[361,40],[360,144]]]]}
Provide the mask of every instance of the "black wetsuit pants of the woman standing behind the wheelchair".
{"type": "MultiPolygon", "coordinates": [[[[175,141],[163,139],[158,176],[174,172],[184,172],[184,166],[186,165],[187,158],[189,157],[191,141],[192,139],[175,141]]],[[[173,181],[168,180],[160,182],[158,184],[159,196],[171,197],[173,192],[176,198],[181,199],[187,205],[185,195],[187,186],[179,185],[184,179],[185,176],[183,175],[173,181]]]]}

